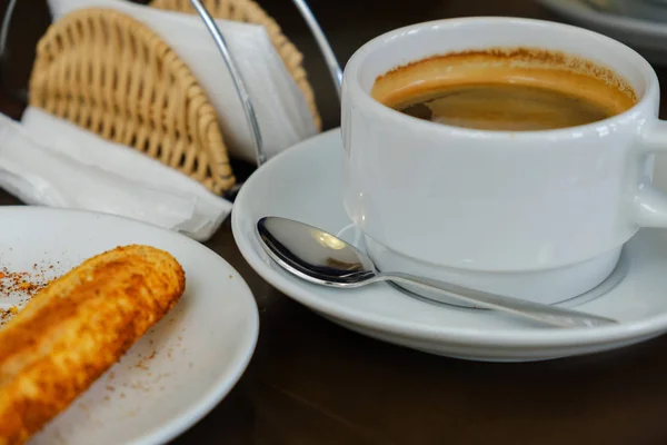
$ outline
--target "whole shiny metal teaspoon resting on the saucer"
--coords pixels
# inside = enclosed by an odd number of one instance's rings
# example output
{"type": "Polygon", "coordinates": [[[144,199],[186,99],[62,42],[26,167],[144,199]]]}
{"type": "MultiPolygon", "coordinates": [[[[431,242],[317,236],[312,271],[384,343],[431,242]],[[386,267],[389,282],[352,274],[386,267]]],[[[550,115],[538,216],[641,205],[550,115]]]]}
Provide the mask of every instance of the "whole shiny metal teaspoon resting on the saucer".
{"type": "Polygon", "coordinates": [[[557,327],[595,327],[618,322],[560,307],[469,289],[404,273],[379,273],[362,251],[336,236],[303,222],[265,217],[257,235],[266,253],[286,270],[318,285],[355,288],[395,281],[437,290],[466,304],[495,309],[557,327]]]}

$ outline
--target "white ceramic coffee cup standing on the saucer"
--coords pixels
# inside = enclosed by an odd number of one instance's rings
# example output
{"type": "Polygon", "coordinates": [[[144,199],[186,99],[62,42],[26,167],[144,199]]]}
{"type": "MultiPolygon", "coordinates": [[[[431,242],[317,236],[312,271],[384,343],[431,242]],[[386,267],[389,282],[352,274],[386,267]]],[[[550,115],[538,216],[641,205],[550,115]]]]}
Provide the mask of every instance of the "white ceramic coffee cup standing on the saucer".
{"type": "Polygon", "coordinates": [[[401,28],[362,46],[345,69],[344,201],[380,270],[400,270],[541,303],[601,283],[640,227],[667,226],[651,187],[667,150],[659,85],[637,52],[555,22],[464,18],[401,28]],[[392,68],[451,51],[532,47],[607,67],[638,96],[590,125],[481,131],[434,123],[370,96],[392,68]]]}

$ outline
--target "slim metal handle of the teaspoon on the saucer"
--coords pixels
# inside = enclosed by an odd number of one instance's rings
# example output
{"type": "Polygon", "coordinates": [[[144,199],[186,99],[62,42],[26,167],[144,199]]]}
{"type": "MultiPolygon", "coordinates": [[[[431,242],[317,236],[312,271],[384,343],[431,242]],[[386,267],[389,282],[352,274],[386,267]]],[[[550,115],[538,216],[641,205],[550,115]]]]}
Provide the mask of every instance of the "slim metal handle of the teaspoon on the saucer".
{"type": "Polygon", "coordinates": [[[381,273],[377,274],[371,279],[374,281],[390,280],[407,285],[416,285],[428,290],[440,291],[450,298],[460,300],[461,303],[471,304],[487,309],[501,310],[524,318],[545,323],[550,326],[594,327],[618,324],[618,322],[614,319],[597,315],[585,314],[556,306],[542,305],[519,298],[489,294],[482,290],[469,289],[455,284],[439,281],[431,278],[417,277],[410,274],[381,273]]]}

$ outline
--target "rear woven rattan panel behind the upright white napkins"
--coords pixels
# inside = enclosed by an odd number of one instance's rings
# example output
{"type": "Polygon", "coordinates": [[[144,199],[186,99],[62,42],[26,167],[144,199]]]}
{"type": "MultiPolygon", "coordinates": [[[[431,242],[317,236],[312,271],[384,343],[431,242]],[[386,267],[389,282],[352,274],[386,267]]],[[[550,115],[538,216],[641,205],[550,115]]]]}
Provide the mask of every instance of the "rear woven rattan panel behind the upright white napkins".
{"type": "MultiPolygon", "coordinates": [[[[306,70],[301,62],[303,56],[285,37],[280,27],[263,9],[252,0],[201,0],[209,13],[216,19],[241,21],[261,24],[266,28],[276,51],[282,59],[295,82],[301,90],[303,98],[310,107],[312,119],[318,131],[321,129],[321,118],[315,103],[315,95],[308,82],[306,70]]],[[[178,12],[196,13],[189,0],[152,0],[149,6],[178,12]]]]}

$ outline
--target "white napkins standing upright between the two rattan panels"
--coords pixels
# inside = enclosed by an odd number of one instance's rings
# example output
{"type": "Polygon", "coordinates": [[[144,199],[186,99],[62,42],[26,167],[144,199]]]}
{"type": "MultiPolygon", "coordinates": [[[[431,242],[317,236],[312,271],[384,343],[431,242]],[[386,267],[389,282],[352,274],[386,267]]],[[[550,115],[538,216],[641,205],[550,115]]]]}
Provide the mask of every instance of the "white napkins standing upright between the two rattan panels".
{"type": "MultiPolygon", "coordinates": [[[[126,0],[48,0],[53,20],[83,8],[117,10],[152,29],[189,66],[216,108],[229,154],[255,161],[251,130],[225,61],[199,16],[165,11],[126,0]]],[[[306,98],[263,27],[216,20],[229,46],[257,113],[270,158],[315,135],[306,98]]]]}

